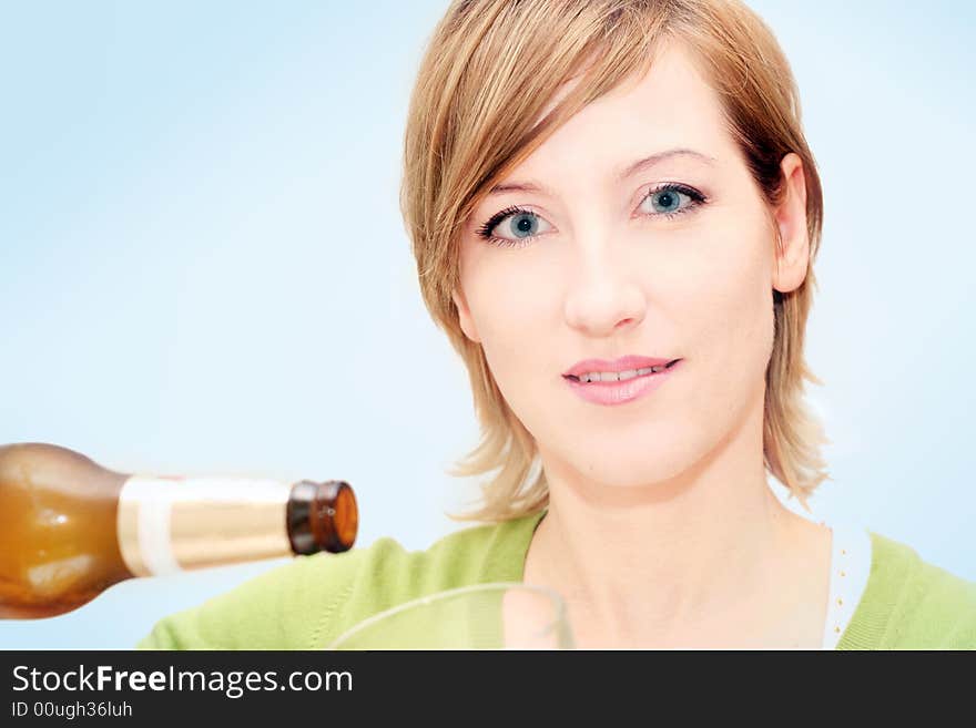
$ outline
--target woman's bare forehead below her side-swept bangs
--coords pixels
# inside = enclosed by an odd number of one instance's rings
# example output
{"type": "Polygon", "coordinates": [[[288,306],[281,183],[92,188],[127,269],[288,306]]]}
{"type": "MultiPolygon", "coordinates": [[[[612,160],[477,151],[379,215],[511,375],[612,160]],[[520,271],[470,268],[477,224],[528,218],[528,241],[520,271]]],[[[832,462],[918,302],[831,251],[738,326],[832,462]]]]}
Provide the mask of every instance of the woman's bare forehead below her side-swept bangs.
{"type": "MultiPolygon", "coordinates": [[[[565,84],[542,115],[579,82],[565,84]]],[[[643,76],[628,79],[580,110],[506,182],[560,180],[571,161],[576,174],[588,170],[613,181],[636,158],[671,148],[720,161],[734,154],[719,94],[700,73],[692,52],[677,42],[660,48],[643,76]]]]}

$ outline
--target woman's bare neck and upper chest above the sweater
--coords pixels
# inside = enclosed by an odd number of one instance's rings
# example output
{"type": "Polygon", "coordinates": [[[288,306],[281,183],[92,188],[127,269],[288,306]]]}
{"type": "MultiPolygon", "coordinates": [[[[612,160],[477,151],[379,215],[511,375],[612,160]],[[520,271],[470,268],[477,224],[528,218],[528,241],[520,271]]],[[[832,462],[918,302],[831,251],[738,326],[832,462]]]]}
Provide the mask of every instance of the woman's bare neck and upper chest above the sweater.
{"type": "Polygon", "coordinates": [[[529,547],[526,581],[563,594],[577,630],[609,644],[718,638],[775,628],[783,615],[795,619],[803,595],[791,585],[816,581],[797,566],[824,555],[828,532],[771,491],[755,457],[761,407],[758,414],[694,468],[626,490],[541,453],[549,510],[529,547]]]}

